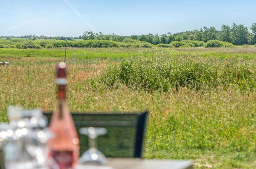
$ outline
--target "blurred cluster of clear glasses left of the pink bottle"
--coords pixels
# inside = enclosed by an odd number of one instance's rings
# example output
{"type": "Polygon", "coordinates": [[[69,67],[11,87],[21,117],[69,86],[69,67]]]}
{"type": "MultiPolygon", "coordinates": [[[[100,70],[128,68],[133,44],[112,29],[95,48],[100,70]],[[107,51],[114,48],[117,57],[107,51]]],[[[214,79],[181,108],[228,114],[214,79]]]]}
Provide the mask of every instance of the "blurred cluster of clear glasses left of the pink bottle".
{"type": "Polygon", "coordinates": [[[9,129],[6,131],[8,137],[4,147],[6,166],[35,168],[45,163],[44,149],[49,136],[44,129],[48,121],[42,111],[10,106],[8,117],[9,129]],[[34,151],[35,156],[31,154],[31,150],[34,151]]]}

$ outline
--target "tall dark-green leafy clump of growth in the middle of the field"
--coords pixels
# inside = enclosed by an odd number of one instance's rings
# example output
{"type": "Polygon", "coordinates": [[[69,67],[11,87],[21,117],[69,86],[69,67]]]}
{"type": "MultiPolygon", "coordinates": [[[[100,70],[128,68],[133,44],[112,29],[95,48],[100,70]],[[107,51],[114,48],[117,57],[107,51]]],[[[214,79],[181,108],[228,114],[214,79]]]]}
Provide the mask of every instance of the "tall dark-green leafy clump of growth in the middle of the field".
{"type": "Polygon", "coordinates": [[[102,81],[108,86],[122,83],[128,87],[168,91],[187,87],[195,90],[213,88],[252,91],[256,66],[233,58],[214,60],[198,57],[136,57],[110,65],[102,81]]]}

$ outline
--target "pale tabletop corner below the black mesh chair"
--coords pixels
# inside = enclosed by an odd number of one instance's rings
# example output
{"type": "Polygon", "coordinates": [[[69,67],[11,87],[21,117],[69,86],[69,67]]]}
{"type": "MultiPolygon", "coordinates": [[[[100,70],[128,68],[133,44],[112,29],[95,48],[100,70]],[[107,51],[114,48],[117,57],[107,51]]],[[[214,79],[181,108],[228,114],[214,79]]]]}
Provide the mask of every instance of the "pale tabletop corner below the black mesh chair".
{"type": "Polygon", "coordinates": [[[191,160],[153,160],[140,158],[107,158],[106,165],[83,165],[78,164],[76,169],[182,169],[192,168],[191,160]]]}

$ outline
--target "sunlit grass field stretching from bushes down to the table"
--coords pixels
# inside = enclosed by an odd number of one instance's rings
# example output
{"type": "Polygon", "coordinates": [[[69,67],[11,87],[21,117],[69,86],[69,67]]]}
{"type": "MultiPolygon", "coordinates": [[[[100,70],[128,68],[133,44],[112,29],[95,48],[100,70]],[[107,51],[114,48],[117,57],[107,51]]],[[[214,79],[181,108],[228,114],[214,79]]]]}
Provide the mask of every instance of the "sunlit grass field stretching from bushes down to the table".
{"type": "MultiPolygon", "coordinates": [[[[54,109],[64,49],[0,49],[0,121],[10,104],[54,109]]],[[[68,49],[68,105],[149,110],[145,158],[254,168],[256,48],[68,49]]]]}

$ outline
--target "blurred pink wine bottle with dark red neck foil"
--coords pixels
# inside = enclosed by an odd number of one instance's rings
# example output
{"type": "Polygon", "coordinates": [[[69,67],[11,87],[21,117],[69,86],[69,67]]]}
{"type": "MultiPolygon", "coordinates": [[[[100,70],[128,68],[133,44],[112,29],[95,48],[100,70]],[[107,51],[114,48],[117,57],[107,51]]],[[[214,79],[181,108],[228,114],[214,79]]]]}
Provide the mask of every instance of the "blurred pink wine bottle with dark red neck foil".
{"type": "Polygon", "coordinates": [[[56,71],[58,103],[50,121],[50,131],[54,134],[54,138],[48,143],[49,156],[55,160],[60,169],[74,168],[79,157],[79,140],[66,102],[66,63],[58,64],[56,71]]]}

